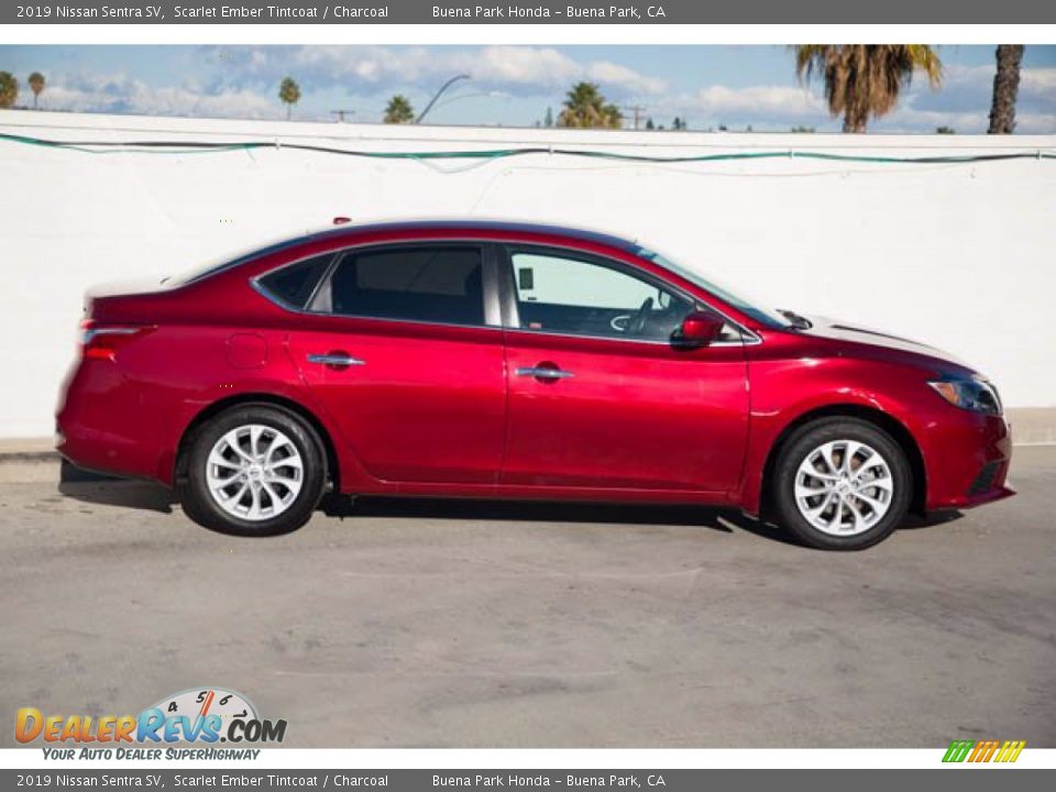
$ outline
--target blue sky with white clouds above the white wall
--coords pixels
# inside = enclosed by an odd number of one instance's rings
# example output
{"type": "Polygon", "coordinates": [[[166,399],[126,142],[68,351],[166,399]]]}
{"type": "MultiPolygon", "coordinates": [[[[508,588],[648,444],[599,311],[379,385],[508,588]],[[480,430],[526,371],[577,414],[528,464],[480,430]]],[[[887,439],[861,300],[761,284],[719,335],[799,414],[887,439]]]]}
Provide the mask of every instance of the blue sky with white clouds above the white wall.
{"type": "MultiPolygon", "coordinates": [[[[923,75],[899,108],[871,122],[873,132],[985,132],[990,110],[994,47],[938,47],[944,80],[933,91],[923,75]]],[[[295,120],[332,121],[345,111],[355,122],[380,122],[388,98],[404,94],[420,111],[443,82],[460,80],[430,111],[442,124],[534,127],[554,114],[579,80],[601,86],[623,107],[644,108],[670,127],[675,117],[693,130],[726,127],[839,131],[821,85],[802,85],[785,46],[0,46],[0,70],[21,85],[19,103],[31,105],[26,78],[41,72],[50,110],[285,118],[278,84],[300,85],[295,120]]],[[[1056,133],[1056,46],[1027,46],[1016,110],[1018,132],[1056,133]]]]}

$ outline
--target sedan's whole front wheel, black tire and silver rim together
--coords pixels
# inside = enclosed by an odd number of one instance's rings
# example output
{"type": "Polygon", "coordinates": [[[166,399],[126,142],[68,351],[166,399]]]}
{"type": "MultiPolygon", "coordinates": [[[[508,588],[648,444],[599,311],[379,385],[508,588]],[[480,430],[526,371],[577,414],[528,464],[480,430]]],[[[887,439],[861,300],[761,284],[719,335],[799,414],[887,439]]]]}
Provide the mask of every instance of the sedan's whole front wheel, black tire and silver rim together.
{"type": "Polygon", "coordinates": [[[783,444],[772,487],[779,522],[804,544],[862,550],[904,519],[913,476],[901,447],[878,426],[823,418],[783,444]]]}

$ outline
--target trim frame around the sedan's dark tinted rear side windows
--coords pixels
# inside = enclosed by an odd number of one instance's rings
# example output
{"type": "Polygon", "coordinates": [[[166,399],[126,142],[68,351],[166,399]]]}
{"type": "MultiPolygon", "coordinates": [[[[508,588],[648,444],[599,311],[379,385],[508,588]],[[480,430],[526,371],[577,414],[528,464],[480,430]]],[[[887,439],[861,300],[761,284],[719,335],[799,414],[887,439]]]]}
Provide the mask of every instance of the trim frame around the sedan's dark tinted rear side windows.
{"type": "Polygon", "coordinates": [[[250,285],[253,289],[260,294],[262,297],[268,301],[277,305],[284,310],[290,311],[293,314],[300,314],[305,316],[314,317],[332,317],[334,319],[362,319],[364,321],[383,321],[383,322],[398,322],[402,324],[428,324],[432,327],[450,327],[450,328],[465,328],[470,330],[504,330],[503,320],[502,320],[502,309],[499,305],[501,299],[501,289],[498,283],[498,263],[496,261],[496,251],[495,244],[491,240],[476,240],[476,239],[451,239],[450,237],[444,237],[436,240],[428,239],[416,239],[408,240],[406,242],[367,242],[360,245],[350,245],[348,248],[338,248],[332,251],[329,251],[331,255],[331,261],[327,265],[327,268],[323,271],[322,275],[319,277],[319,280],[316,283],[315,288],[311,292],[311,296],[305,302],[302,308],[293,306],[276,295],[272,294],[265,286],[263,286],[260,280],[273,273],[285,270],[286,267],[295,266],[301,264],[310,258],[316,258],[320,255],[328,255],[328,253],[316,253],[312,255],[301,256],[295,258],[294,261],[286,262],[273,270],[254,275],[250,278],[250,285]],[[375,317],[375,316],[364,316],[359,314],[334,314],[332,310],[317,310],[312,309],[310,306],[318,299],[320,290],[326,284],[330,282],[330,278],[333,276],[333,273],[341,265],[341,262],[344,261],[346,256],[350,255],[360,255],[362,253],[371,253],[375,251],[385,251],[392,249],[406,250],[408,248],[476,248],[481,251],[481,286],[483,290],[483,309],[484,309],[484,323],[482,324],[462,324],[458,322],[441,322],[441,321],[431,321],[427,319],[405,319],[396,317],[375,317]]]}

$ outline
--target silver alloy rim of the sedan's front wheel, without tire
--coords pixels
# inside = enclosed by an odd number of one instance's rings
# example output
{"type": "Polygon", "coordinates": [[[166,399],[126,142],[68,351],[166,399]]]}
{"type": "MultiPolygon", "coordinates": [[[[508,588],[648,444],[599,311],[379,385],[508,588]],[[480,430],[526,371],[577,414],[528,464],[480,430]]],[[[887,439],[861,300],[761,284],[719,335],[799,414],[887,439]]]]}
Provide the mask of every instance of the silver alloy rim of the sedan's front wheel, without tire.
{"type": "Polygon", "coordinates": [[[894,477],[876,449],[834,440],[811,451],[795,473],[795,505],[823,534],[849,537],[876,526],[891,508],[894,477]]]}

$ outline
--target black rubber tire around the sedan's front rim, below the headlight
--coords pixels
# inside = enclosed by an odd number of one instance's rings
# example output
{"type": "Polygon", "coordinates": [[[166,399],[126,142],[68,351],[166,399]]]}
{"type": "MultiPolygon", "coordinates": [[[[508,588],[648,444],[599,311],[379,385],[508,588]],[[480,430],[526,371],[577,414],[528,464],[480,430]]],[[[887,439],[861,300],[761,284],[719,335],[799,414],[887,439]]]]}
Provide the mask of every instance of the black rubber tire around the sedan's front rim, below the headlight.
{"type": "MultiPolygon", "coordinates": [[[[905,518],[913,497],[913,475],[905,452],[883,429],[857,418],[821,418],[796,429],[782,444],[770,484],[777,522],[803,544],[820,550],[865,550],[882,541],[905,518]],[[824,443],[842,440],[865,443],[878,452],[891,471],[893,484],[883,516],[867,530],[851,536],[834,536],[816,528],[801,514],[795,499],[795,479],[803,461],[824,443]]],[[[807,505],[816,503],[818,501],[807,501],[807,505]]],[[[856,502],[856,505],[861,503],[856,502]]]]}

